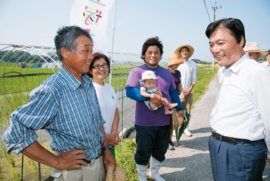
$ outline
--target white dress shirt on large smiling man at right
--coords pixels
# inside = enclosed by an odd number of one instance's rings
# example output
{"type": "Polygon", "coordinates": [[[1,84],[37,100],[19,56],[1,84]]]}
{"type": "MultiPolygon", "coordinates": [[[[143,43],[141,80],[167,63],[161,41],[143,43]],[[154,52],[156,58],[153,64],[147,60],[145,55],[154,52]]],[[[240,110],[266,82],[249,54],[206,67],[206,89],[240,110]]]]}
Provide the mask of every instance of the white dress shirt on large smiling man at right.
{"type": "Polygon", "coordinates": [[[265,138],[270,158],[269,92],[270,69],[244,54],[224,71],[209,125],[223,136],[251,141],[265,138]]]}

